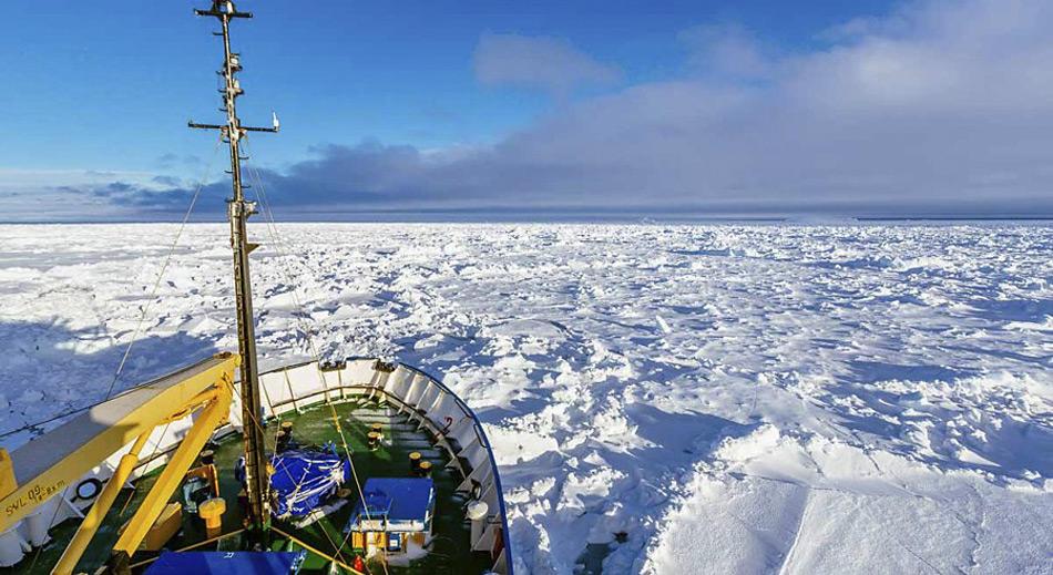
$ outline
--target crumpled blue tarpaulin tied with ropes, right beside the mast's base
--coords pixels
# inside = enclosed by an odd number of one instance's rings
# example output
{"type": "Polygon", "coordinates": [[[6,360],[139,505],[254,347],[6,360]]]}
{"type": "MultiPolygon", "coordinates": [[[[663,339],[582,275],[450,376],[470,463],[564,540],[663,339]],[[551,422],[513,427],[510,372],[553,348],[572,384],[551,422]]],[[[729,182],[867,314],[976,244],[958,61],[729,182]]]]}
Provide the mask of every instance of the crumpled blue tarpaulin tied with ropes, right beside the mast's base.
{"type": "Polygon", "coordinates": [[[270,486],[277,494],[277,517],[301,517],[336,492],[351,474],[350,462],[331,452],[289,450],[270,458],[270,486]]]}

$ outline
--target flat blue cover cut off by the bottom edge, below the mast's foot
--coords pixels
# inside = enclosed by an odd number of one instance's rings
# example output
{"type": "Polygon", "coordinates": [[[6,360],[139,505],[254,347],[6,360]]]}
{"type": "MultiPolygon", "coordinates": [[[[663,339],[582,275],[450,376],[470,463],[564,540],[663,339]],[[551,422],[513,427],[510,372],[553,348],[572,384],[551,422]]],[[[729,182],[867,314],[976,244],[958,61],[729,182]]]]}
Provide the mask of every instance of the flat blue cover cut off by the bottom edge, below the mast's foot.
{"type": "Polygon", "coordinates": [[[146,575],[293,575],[299,573],[306,552],[254,553],[247,551],[164,552],[146,568],[146,575]]]}

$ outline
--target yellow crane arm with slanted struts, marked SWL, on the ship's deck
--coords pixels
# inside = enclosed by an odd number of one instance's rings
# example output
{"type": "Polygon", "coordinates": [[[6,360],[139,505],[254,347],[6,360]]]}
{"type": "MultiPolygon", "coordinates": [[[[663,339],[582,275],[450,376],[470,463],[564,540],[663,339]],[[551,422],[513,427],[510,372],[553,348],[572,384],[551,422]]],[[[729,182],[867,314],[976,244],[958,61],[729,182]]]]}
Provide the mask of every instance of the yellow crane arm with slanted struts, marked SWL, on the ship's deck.
{"type": "Polygon", "coordinates": [[[154,429],[196,412],[193,425],[113,547],[115,554],[131,556],[201,449],[226,423],[239,363],[236,353],[213,356],[99,403],[10,454],[0,448],[0,533],[131,444],[52,571],[73,573],[154,429]]]}

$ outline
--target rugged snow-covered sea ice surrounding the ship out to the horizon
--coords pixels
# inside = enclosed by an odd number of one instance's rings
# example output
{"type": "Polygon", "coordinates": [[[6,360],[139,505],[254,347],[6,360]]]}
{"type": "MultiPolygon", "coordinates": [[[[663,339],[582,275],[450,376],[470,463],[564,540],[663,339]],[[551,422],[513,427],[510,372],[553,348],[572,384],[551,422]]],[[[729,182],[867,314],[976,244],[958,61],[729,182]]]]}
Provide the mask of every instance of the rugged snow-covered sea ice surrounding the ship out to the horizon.
{"type": "MultiPolygon", "coordinates": [[[[265,364],[441,377],[524,573],[1053,573],[1053,227],[278,228],[265,364]]],[[[101,399],[147,304],[117,388],[235,346],[225,226],[149,300],[174,233],[0,226],[0,431],[101,399]]]]}

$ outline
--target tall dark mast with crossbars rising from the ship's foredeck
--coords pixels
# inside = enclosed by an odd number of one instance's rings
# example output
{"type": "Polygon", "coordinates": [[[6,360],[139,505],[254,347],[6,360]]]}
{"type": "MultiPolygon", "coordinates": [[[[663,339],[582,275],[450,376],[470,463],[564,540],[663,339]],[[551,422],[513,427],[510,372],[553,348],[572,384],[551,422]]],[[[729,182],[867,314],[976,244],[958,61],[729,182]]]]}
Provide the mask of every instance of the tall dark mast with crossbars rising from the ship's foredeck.
{"type": "Polygon", "coordinates": [[[246,127],[237,117],[235,102],[244,91],[235,74],[242,70],[241,58],[231,51],[231,20],[252,18],[251,12],[239,12],[234,2],[213,0],[208,10],[194,10],[197,16],[211,16],[219,20],[223,37],[223,69],[217,72],[224,79],[223,107],[226,124],[196,124],[191,127],[218,130],[224,142],[231,148],[231,181],[234,197],[227,199],[227,216],[231,220],[231,247],[234,250],[234,292],[237,300],[237,347],[242,356],[242,427],[245,435],[245,491],[248,499],[249,527],[263,542],[270,528],[270,478],[267,475],[267,459],[264,451],[263,411],[260,409],[259,373],[256,359],[256,336],[253,322],[253,286],[248,273],[248,254],[256,244],[248,242],[248,217],[256,213],[255,202],[245,199],[242,191],[242,157],[238,143],[247,132],[277,132],[278,121],[274,117],[273,127],[246,127]]]}

